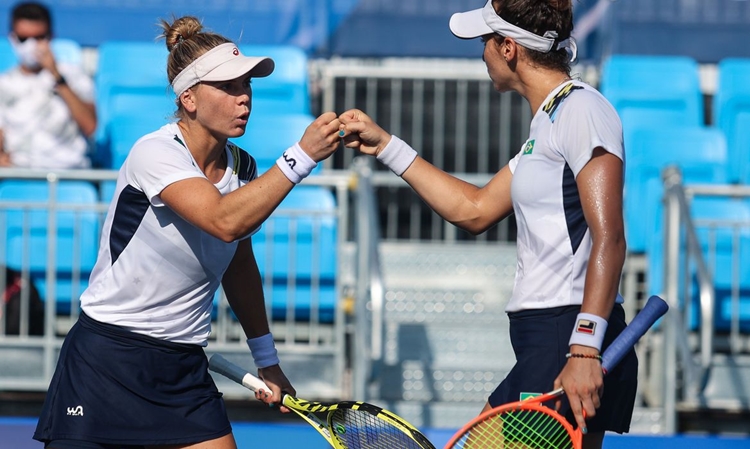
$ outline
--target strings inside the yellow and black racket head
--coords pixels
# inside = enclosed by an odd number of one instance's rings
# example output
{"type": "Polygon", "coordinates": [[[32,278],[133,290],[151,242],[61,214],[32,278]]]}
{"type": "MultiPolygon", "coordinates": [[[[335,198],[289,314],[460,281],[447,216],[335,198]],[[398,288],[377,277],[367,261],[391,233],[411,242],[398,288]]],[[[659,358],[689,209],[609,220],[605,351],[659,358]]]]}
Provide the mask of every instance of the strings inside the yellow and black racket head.
{"type": "Polygon", "coordinates": [[[329,417],[331,433],[347,449],[423,449],[399,427],[369,412],[337,409],[329,417]]]}

